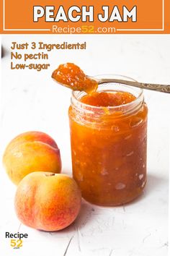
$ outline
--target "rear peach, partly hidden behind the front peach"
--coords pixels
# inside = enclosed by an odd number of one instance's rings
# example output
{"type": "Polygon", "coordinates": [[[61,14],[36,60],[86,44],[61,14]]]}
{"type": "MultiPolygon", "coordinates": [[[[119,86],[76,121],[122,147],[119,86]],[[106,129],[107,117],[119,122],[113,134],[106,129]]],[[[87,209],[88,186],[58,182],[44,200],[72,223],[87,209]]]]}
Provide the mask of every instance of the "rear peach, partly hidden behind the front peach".
{"type": "Polygon", "coordinates": [[[58,145],[44,132],[24,132],[15,137],[6,147],[3,163],[14,184],[32,171],[61,172],[58,145]]]}

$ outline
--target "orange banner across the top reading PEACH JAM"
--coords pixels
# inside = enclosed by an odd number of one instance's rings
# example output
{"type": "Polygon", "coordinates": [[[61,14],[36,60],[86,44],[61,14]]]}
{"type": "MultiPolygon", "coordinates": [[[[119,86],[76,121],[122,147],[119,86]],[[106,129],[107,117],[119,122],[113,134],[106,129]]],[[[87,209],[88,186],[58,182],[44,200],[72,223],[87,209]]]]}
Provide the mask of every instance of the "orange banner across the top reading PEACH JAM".
{"type": "Polygon", "coordinates": [[[169,0],[0,0],[1,33],[170,33],[169,0]]]}

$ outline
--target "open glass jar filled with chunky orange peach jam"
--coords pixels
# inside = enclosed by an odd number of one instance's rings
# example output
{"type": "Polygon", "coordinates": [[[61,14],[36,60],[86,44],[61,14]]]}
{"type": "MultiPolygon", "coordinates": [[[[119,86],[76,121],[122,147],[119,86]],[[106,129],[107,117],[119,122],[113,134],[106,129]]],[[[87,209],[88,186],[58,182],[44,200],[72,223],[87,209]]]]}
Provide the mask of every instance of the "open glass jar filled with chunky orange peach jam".
{"type": "Polygon", "coordinates": [[[138,197],[146,184],[148,108],[142,89],[107,83],[97,91],[131,93],[135,100],[120,106],[91,106],[81,102],[86,93],[72,93],[68,112],[73,178],[85,200],[122,205],[138,197]]]}

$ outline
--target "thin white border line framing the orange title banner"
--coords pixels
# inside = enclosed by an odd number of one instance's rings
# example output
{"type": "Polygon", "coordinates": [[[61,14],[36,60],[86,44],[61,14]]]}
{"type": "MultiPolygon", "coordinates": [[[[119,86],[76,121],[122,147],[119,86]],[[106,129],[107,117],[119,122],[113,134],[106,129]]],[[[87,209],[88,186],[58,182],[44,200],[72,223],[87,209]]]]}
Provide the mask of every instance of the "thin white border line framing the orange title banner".
{"type": "MultiPolygon", "coordinates": [[[[5,0],[3,0],[3,30],[4,31],[50,31],[50,28],[42,28],[42,29],[36,29],[36,28],[25,28],[25,29],[9,29],[5,28],[5,0]]],[[[162,28],[116,28],[117,31],[164,31],[164,0],[162,0],[162,28]]]]}

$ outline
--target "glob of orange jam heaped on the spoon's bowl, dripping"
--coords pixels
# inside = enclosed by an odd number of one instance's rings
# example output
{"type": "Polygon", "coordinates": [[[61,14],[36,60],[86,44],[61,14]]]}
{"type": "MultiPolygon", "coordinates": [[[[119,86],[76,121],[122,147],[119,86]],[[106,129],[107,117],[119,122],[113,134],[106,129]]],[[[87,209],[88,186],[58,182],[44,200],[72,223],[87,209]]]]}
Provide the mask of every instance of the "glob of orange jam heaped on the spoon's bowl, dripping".
{"type": "Polygon", "coordinates": [[[52,78],[71,90],[83,90],[93,93],[97,90],[97,81],[87,77],[86,74],[75,64],[66,63],[59,65],[52,74],[52,78]]]}

